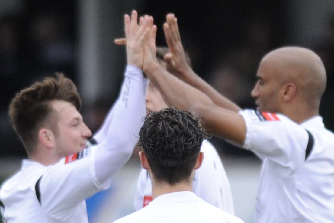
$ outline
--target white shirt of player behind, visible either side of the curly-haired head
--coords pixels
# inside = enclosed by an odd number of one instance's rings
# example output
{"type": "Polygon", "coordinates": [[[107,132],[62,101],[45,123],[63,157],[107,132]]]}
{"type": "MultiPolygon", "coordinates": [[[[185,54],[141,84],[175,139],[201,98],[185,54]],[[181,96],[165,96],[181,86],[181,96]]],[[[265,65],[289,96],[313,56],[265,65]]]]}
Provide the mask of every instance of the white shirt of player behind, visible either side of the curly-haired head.
{"type": "MultiPolygon", "coordinates": [[[[204,140],[201,152],[204,153],[204,159],[202,166],[195,172],[193,192],[209,204],[234,215],[230,185],[217,151],[210,142],[204,140]]],[[[137,183],[136,210],[152,201],[151,184],[148,172],[142,169],[137,183]]]]}

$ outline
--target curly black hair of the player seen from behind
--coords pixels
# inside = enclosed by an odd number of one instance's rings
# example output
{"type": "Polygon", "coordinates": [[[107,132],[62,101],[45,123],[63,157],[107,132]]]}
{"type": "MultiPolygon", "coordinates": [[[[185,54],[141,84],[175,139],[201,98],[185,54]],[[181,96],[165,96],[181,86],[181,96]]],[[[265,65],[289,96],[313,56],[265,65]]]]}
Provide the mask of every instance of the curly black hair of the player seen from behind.
{"type": "Polygon", "coordinates": [[[169,107],[149,113],[139,137],[155,179],[173,185],[189,178],[202,141],[209,135],[201,118],[169,107]]]}

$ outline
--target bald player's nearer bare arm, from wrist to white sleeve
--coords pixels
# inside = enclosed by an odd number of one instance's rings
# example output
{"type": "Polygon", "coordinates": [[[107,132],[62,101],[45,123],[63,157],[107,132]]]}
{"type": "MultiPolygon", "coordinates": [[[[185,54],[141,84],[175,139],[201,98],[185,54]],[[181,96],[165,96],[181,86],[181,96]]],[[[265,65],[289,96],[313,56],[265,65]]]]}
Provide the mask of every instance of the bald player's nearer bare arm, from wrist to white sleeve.
{"type": "Polygon", "coordinates": [[[146,75],[159,89],[168,105],[202,116],[208,132],[243,144],[245,123],[237,112],[217,106],[210,97],[169,74],[157,63],[147,69],[146,75]]]}

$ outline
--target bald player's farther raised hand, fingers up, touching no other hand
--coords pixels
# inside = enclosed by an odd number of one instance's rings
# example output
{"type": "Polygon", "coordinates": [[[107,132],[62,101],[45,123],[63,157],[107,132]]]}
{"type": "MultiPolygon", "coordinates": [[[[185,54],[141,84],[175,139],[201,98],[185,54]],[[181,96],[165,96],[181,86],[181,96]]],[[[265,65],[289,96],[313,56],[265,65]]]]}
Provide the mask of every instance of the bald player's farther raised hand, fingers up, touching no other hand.
{"type": "Polygon", "coordinates": [[[176,76],[183,75],[191,68],[186,61],[177,25],[177,18],[175,18],[174,14],[168,14],[166,16],[164,32],[169,48],[169,53],[167,53],[164,58],[167,63],[167,71],[176,76]]]}

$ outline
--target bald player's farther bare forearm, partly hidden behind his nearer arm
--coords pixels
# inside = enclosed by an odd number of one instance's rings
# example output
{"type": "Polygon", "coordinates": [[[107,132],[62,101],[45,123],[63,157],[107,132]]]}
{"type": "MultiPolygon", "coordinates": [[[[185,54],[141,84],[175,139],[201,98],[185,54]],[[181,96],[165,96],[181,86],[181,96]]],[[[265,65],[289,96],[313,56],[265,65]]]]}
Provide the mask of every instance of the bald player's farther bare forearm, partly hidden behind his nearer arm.
{"type": "Polygon", "coordinates": [[[190,84],[191,86],[206,94],[217,106],[235,112],[241,110],[237,104],[221,95],[211,85],[209,85],[202,78],[200,78],[190,67],[182,74],[178,75],[178,77],[184,82],[190,84]]]}

